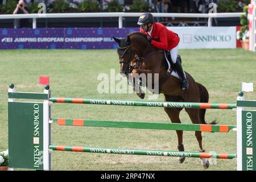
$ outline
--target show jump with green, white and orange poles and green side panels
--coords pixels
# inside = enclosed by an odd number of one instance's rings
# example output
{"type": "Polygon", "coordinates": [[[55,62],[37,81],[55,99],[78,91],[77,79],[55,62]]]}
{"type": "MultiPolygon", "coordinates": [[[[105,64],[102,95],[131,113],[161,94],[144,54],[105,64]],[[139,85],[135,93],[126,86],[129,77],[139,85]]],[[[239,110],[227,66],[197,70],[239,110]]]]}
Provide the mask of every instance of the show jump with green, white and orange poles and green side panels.
{"type": "Polygon", "coordinates": [[[239,96],[237,97],[237,104],[88,100],[81,98],[51,97],[51,91],[49,90],[48,85],[46,86],[44,93],[15,92],[14,85],[10,84],[10,88],[8,90],[9,167],[51,170],[51,152],[56,150],[126,155],[184,156],[188,158],[237,158],[237,170],[255,171],[256,152],[253,153],[253,151],[256,150],[256,111],[245,110],[245,107],[256,107],[256,101],[246,101],[243,96],[243,92],[239,93],[239,96]],[[16,101],[17,99],[20,101],[16,101]],[[26,102],[24,100],[39,101],[26,102]],[[197,109],[236,109],[237,126],[51,118],[51,106],[53,103],[197,109]],[[237,131],[237,154],[58,146],[51,144],[52,122],[57,122],[57,125],[67,126],[209,131],[221,133],[229,132],[233,129],[237,131]]]}

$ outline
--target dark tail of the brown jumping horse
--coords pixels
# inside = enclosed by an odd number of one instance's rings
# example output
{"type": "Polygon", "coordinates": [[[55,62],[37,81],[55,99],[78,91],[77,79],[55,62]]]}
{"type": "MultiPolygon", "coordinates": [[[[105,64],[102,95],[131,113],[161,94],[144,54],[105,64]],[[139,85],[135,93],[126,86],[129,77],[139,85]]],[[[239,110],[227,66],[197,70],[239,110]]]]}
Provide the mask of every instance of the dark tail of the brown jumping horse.
{"type": "MultiPolygon", "coordinates": [[[[200,102],[209,102],[209,93],[205,86],[196,82],[197,88],[199,89],[200,94],[200,102]]],[[[201,124],[208,124],[205,122],[205,112],[206,109],[200,109],[200,123],[201,124]]],[[[216,119],[209,123],[209,125],[216,125],[216,119]]]]}

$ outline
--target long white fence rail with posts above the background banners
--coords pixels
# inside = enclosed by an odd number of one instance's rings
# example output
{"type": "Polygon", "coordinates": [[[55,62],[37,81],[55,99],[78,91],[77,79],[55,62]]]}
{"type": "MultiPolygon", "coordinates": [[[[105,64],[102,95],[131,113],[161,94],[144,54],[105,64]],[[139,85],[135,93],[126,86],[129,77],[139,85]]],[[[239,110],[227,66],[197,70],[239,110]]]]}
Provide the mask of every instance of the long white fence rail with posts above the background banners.
{"type": "MultiPolygon", "coordinates": [[[[118,17],[118,27],[123,27],[123,17],[139,17],[142,13],[47,13],[47,14],[9,14],[0,15],[0,19],[22,19],[31,18],[33,28],[36,28],[36,19],[38,18],[108,18],[118,17]]],[[[213,18],[234,18],[240,17],[245,13],[152,13],[155,17],[164,18],[208,18],[208,27],[212,26],[213,18]]]]}

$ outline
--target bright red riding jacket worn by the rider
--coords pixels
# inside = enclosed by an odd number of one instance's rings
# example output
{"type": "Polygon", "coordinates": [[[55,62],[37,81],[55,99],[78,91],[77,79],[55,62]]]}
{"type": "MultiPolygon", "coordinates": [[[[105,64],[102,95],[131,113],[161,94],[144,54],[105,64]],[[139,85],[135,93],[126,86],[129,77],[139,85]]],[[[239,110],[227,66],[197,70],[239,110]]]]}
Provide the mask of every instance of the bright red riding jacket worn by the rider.
{"type": "MultiPolygon", "coordinates": [[[[148,32],[143,32],[142,28],[139,29],[139,32],[150,36],[148,32]]],[[[152,46],[168,51],[175,48],[180,42],[179,36],[175,32],[168,30],[168,28],[161,23],[153,24],[151,40],[152,46]]]]}

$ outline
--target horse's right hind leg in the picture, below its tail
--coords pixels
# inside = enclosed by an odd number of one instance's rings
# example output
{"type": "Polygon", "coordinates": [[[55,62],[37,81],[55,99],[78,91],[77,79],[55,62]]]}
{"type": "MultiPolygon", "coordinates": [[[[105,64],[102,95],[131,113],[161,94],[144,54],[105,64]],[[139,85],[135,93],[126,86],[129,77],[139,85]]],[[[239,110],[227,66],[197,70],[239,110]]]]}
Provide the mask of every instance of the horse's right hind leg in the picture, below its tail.
{"type": "MultiPolygon", "coordinates": [[[[185,109],[187,111],[189,118],[191,119],[193,124],[200,124],[200,109],[185,109]]],[[[205,152],[203,149],[202,143],[202,134],[201,131],[195,131],[197,142],[199,143],[200,152],[205,152]]],[[[203,166],[205,169],[209,168],[209,161],[207,159],[201,158],[203,166]]]]}

